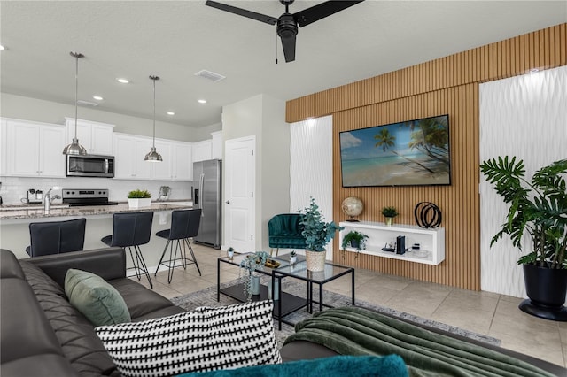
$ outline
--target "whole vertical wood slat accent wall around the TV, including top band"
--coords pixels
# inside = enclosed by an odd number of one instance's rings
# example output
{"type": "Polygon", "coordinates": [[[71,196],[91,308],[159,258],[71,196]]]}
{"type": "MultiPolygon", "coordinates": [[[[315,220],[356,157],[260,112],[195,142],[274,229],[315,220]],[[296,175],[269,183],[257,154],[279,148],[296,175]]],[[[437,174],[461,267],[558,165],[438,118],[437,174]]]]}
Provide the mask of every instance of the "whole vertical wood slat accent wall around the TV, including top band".
{"type": "Polygon", "coordinates": [[[429,201],[443,213],[446,259],[437,266],[338,250],[334,260],[346,265],[480,289],[480,219],[478,182],[478,84],[523,74],[532,68],[567,65],[567,24],[463,51],[400,71],[288,101],[286,120],[333,115],[333,219],[346,219],[340,204],[361,197],[360,219],[383,221],[380,209],[395,205],[396,221],[415,224],[417,203],[429,201]],[[452,184],[443,187],[342,188],[338,133],[341,131],[449,114],[452,184]]]}

